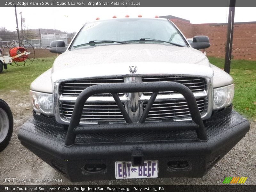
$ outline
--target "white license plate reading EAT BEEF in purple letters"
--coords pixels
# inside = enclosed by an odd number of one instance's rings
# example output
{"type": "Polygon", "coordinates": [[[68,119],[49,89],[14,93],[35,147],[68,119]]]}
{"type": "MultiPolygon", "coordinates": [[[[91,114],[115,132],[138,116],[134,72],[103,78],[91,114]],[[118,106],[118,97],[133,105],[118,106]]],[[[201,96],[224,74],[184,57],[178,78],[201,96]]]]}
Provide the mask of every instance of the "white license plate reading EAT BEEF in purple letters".
{"type": "Polygon", "coordinates": [[[144,166],[133,167],[131,161],[115,162],[116,179],[156,178],[158,161],[144,161],[144,166]]]}

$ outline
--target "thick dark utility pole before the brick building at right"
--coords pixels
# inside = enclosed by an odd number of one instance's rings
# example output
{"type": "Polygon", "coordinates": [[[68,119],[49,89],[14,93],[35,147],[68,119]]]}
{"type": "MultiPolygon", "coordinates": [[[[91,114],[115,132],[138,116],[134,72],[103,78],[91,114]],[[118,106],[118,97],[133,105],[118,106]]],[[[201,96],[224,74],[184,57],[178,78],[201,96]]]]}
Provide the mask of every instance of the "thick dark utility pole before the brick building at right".
{"type": "Polygon", "coordinates": [[[235,7],[236,7],[236,0],[230,0],[229,13],[228,13],[228,31],[227,31],[227,40],[226,40],[226,55],[225,55],[225,64],[224,64],[224,71],[227,72],[228,74],[230,73],[230,64],[231,64],[235,7]]]}

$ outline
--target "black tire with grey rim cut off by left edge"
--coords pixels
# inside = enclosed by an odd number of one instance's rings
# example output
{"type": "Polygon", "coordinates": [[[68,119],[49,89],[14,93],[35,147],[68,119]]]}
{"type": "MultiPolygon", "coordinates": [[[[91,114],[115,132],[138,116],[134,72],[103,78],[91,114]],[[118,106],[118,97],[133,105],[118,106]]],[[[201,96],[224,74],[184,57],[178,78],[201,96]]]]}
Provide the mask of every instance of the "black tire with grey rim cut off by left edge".
{"type": "Polygon", "coordinates": [[[9,144],[12,137],[12,131],[13,131],[12,111],[8,106],[8,104],[4,100],[0,99],[0,151],[4,150],[4,148],[6,148],[6,146],[9,144]],[[8,124],[7,127],[6,127],[6,123],[8,124]]]}

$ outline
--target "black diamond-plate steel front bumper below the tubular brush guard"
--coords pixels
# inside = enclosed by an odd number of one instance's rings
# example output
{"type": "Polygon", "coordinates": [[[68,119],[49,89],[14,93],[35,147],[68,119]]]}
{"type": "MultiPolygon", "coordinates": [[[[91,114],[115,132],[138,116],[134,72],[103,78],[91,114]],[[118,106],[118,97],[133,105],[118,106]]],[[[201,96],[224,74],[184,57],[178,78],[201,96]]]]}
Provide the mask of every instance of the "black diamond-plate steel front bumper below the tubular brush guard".
{"type": "Polygon", "coordinates": [[[204,122],[208,137],[205,142],[198,140],[194,130],[92,132],[78,134],[76,144],[65,147],[67,129],[54,123],[54,118],[35,118],[40,122],[28,120],[20,128],[18,138],[71,181],[115,179],[115,162],[131,161],[134,148],[141,149],[145,160],[159,161],[158,177],[202,177],[250,128],[249,122],[237,112],[224,110],[204,122]],[[170,166],[175,162],[187,162],[188,166],[170,166]],[[105,169],[87,172],[88,164],[105,165],[105,169]]]}

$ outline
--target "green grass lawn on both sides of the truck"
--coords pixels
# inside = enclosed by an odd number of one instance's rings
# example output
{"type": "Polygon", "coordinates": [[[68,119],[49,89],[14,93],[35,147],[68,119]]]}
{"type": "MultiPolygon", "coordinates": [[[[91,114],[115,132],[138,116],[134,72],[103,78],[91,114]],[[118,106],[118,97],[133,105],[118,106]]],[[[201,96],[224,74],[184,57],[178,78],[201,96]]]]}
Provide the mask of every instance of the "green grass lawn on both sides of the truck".
{"type": "MultiPolygon", "coordinates": [[[[0,74],[0,90],[19,90],[28,93],[30,83],[52,67],[55,57],[35,59],[27,67],[8,65],[0,74]]],[[[224,59],[209,57],[212,64],[224,68],[224,59]]],[[[230,75],[235,82],[234,108],[247,118],[256,121],[256,61],[232,60],[230,75]]]]}

